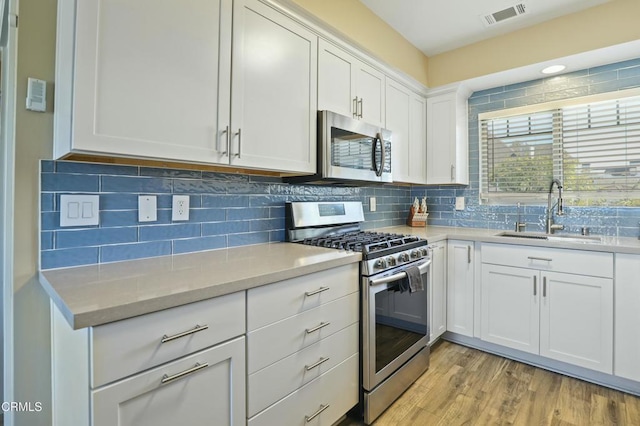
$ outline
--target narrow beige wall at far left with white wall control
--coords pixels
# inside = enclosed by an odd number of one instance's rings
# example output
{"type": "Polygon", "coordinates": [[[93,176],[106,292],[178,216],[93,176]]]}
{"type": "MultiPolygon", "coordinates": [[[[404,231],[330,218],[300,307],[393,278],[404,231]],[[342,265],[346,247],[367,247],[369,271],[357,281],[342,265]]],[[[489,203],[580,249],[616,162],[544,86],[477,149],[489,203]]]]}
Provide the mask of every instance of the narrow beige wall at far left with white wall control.
{"type": "Polygon", "coordinates": [[[20,0],[16,99],[14,391],[40,401],[41,413],[20,413],[16,425],[51,424],[48,297],[37,281],[39,160],[51,158],[56,1],[20,0]],[[27,77],[46,80],[46,113],[25,109],[27,77]]]}

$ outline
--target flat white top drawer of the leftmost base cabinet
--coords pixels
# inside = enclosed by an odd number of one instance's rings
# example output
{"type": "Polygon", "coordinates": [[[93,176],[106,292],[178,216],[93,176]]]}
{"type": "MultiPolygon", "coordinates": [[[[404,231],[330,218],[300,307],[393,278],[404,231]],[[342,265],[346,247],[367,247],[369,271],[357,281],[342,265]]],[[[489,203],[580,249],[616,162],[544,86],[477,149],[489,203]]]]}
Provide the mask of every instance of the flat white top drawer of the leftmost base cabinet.
{"type": "Polygon", "coordinates": [[[91,386],[102,386],[244,332],[244,292],[94,327],[91,386]],[[164,336],[179,336],[196,326],[208,328],[162,343],[164,336]]]}

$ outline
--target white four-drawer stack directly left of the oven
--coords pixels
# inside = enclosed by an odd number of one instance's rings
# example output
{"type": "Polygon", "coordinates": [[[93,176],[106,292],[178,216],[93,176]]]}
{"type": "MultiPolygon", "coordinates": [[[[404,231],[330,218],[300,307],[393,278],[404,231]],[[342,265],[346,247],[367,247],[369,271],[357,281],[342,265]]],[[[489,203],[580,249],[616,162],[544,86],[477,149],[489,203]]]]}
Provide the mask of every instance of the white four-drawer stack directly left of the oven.
{"type": "Polygon", "coordinates": [[[248,291],[251,426],[331,425],[357,404],[358,287],[351,264],[248,291]]]}

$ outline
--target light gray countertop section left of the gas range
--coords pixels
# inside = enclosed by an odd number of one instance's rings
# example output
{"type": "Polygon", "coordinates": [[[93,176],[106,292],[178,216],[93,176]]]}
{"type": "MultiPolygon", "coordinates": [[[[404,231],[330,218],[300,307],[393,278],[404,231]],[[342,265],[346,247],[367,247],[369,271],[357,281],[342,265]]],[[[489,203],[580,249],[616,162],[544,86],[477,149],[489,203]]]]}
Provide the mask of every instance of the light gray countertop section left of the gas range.
{"type": "Polygon", "coordinates": [[[359,262],[360,253],[270,243],[40,272],[73,329],[359,262]]]}

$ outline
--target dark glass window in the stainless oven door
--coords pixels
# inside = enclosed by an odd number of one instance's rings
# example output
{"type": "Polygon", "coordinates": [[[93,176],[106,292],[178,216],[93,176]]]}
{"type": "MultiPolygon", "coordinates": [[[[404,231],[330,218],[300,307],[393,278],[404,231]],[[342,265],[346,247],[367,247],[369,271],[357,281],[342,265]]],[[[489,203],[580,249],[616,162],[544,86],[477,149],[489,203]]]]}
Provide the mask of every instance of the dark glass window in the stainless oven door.
{"type": "Polygon", "coordinates": [[[375,295],[376,373],[427,335],[427,292],[401,293],[396,288],[375,295]]]}

